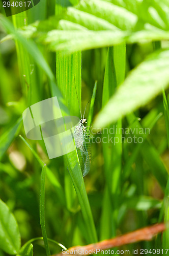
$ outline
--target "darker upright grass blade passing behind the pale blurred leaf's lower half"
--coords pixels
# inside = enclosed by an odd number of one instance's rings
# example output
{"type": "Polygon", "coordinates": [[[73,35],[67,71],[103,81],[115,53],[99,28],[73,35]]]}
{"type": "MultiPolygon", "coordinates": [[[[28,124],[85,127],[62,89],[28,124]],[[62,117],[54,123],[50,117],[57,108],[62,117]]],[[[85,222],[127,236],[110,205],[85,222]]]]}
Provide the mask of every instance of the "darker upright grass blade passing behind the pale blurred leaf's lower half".
{"type": "MultiPolygon", "coordinates": [[[[117,89],[117,79],[115,71],[114,62],[114,48],[109,47],[107,51],[106,66],[103,81],[103,95],[102,95],[102,108],[107,103],[109,98],[115,93],[117,89]]],[[[112,125],[108,126],[108,131],[110,131],[112,125]]],[[[100,240],[108,239],[116,236],[116,218],[114,216],[114,198],[112,198],[112,169],[111,164],[114,162],[112,160],[112,152],[114,151],[114,145],[111,146],[108,143],[109,132],[104,134],[106,137],[106,143],[103,143],[103,156],[104,156],[104,170],[106,187],[104,191],[104,199],[102,206],[102,216],[101,216],[101,226],[100,226],[100,240]],[[113,213],[112,213],[113,212],[113,213]],[[106,218],[105,218],[106,215],[106,218]]],[[[103,137],[102,136],[102,137],[103,137]]],[[[118,135],[119,136],[119,135],[118,135]]],[[[115,149],[115,156],[117,157],[117,151],[115,149]]],[[[118,158],[119,161],[119,158],[118,158]]],[[[119,185],[119,184],[118,184],[119,185]]],[[[116,200],[116,199],[115,199],[116,200]]]]}

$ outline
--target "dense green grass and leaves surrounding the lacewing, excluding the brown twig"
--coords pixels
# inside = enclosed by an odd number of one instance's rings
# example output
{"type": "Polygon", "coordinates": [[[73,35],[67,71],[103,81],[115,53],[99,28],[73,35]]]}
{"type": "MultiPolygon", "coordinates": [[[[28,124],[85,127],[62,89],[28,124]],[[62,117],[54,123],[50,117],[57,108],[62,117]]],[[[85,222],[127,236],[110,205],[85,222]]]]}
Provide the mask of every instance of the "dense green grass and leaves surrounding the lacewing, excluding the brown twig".
{"type": "MultiPolygon", "coordinates": [[[[168,220],[169,5],[77,4],[0,15],[1,256],[50,255],[168,220]],[[43,140],[25,136],[23,111],[54,96],[63,116],[81,118],[89,102],[84,178],[76,150],[49,159],[43,140]]],[[[159,234],[125,248],[168,248],[168,230],[162,245],[159,234]]]]}

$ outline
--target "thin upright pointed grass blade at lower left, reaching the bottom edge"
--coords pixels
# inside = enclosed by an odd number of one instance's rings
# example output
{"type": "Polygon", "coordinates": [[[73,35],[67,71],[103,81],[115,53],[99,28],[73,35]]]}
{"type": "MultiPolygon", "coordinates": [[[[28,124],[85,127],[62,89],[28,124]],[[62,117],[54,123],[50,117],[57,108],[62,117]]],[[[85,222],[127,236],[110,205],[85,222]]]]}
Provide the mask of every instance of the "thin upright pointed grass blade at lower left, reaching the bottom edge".
{"type": "Polygon", "coordinates": [[[47,241],[47,234],[45,228],[45,176],[46,176],[46,164],[42,168],[41,174],[41,192],[40,192],[40,224],[42,230],[43,241],[47,256],[50,255],[49,245],[47,241]]]}

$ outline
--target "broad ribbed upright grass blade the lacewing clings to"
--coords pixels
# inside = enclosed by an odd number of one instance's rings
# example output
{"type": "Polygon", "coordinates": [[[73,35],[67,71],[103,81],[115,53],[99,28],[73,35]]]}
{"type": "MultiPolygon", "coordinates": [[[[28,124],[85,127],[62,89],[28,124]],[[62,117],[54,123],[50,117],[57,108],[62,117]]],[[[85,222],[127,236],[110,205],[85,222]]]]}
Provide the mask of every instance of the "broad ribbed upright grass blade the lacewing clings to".
{"type": "MultiPolygon", "coordinates": [[[[72,1],[72,3],[75,2],[75,0],[72,1]]],[[[64,7],[59,4],[55,5],[55,15],[59,15],[62,11],[64,11],[64,7]]],[[[80,117],[79,105],[81,106],[81,51],[77,51],[68,56],[64,55],[62,51],[57,52],[56,73],[58,87],[64,95],[70,114],[80,117]]],[[[68,192],[74,191],[72,195],[73,198],[76,191],[77,198],[81,206],[81,213],[85,221],[88,233],[86,240],[88,242],[96,242],[96,229],[76,150],[65,155],[64,159],[65,168],[68,169],[70,174],[70,177],[67,175],[65,177],[68,179],[65,189],[68,190],[68,192]],[[72,189],[72,183],[75,190],[72,189]]],[[[67,198],[67,200],[70,200],[70,197],[67,198]]],[[[72,203],[73,202],[70,202],[70,204],[72,203]]],[[[72,233],[70,236],[72,236],[72,233]]]]}

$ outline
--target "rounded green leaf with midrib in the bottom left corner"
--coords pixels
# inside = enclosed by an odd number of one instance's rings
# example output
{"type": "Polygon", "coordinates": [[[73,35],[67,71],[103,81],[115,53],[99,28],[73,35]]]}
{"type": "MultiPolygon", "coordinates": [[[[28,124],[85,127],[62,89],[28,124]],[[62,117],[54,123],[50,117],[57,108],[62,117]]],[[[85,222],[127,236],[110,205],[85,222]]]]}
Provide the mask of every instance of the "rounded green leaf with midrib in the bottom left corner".
{"type": "Polygon", "coordinates": [[[0,248],[9,254],[16,254],[20,248],[20,233],[15,217],[0,199],[0,248]]]}

